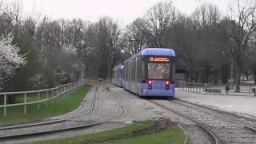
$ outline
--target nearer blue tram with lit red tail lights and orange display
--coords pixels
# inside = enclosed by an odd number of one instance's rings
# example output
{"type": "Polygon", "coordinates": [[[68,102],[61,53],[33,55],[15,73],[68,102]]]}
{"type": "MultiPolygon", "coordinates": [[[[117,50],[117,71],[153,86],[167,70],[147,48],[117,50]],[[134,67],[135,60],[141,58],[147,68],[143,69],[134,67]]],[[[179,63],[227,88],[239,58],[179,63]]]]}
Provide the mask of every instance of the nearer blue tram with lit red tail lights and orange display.
{"type": "Polygon", "coordinates": [[[124,89],[139,96],[174,97],[175,52],[146,48],[124,62],[124,89]]]}

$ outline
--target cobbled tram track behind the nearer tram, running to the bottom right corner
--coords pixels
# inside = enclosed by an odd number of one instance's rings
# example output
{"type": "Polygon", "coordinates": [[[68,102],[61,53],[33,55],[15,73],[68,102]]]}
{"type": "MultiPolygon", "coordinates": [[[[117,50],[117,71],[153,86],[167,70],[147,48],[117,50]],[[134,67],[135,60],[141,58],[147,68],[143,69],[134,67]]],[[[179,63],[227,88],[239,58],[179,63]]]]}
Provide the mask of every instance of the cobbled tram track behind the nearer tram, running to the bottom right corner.
{"type": "Polygon", "coordinates": [[[212,135],[215,143],[256,143],[256,130],[252,125],[255,123],[253,122],[241,122],[241,119],[237,120],[230,115],[177,102],[177,100],[150,100],[150,102],[196,122],[212,135]]]}

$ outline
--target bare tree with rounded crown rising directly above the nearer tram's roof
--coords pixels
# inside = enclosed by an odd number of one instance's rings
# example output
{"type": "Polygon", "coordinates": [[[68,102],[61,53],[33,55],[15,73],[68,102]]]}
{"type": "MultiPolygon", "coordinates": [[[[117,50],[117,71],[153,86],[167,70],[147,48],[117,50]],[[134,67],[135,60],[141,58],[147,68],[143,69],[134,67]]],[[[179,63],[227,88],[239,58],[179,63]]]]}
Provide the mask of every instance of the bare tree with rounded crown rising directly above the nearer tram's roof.
{"type": "Polygon", "coordinates": [[[172,3],[158,3],[147,11],[141,31],[146,36],[148,46],[170,46],[168,31],[177,18],[177,10],[172,3]]]}

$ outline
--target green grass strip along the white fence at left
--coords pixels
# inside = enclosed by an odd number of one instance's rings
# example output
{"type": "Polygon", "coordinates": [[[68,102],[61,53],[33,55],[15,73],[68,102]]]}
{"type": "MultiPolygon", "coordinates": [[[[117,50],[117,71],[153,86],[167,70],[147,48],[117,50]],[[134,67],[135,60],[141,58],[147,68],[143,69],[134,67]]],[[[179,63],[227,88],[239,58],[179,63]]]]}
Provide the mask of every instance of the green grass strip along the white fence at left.
{"type": "MultiPolygon", "coordinates": [[[[24,106],[11,106],[6,109],[6,118],[3,118],[3,108],[0,109],[0,123],[1,124],[11,124],[17,122],[27,122],[40,120],[43,118],[49,118],[59,114],[66,114],[72,110],[78,108],[81,104],[82,99],[85,98],[86,93],[92,85],[86,84],[79,90],[76,90],[72,94],[66,95],[64,98],[60,99],[58,102],[55,100],[48,102],[48,107],[46,107],[46,102],[40,103],[40,109],[38,110],[38,104],[27,105],[26,114],[24,114],[24,106]]],[[[28,96],[29,102],[34,101],[32,96],[28,96]]],[[[22,99],[18,99],[22,100],[22,99]]]]}

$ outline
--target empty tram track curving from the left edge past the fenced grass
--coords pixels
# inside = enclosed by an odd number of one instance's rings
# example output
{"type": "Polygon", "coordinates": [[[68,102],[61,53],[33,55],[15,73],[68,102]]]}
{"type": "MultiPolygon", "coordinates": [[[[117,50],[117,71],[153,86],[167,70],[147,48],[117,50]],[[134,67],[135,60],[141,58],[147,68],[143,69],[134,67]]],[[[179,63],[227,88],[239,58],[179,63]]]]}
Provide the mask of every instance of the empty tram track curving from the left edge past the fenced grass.
{"type": "Polygon", "coordinates": [[[98,86],[94,89],[94,94],[92,101],[90,103],[90,109],[86,111],[82,111],[83,108],[80,107],[78,113],[67,116],[66,118],[61,118],[57,120],[52,120],[50,122],[37,122],[32,124],[23,124],[18,126],[5,126],[0,128],[0,140],[8,141],[18,139],[18,138],[30,138],[36,135],[42,134],[53,134],[56,132],[62,132],[67,130],[79,130],[83,128],[87,128],[90,126],[99,125],[105,122],[109,122],[112,119],[121,118],[126,114],[126,108],[122,106],[122,103],[118,101],[113,95],[110,94],[111,101],[116,103],[116,106],[122,110],[118,115],[111,115],[109,118],[102,119],[98,121],[97,119],[89,120],[89,121],[81,121],[79,118],[85,117],[87,115],[94,114],[97,112],[95,110],[95,105],[98,99],[98,86]],[[42,130],[43,129],[43,130],[42,130]]]}

